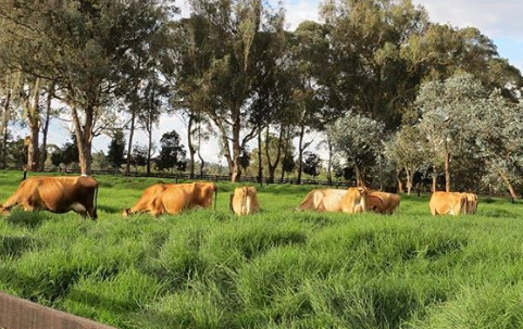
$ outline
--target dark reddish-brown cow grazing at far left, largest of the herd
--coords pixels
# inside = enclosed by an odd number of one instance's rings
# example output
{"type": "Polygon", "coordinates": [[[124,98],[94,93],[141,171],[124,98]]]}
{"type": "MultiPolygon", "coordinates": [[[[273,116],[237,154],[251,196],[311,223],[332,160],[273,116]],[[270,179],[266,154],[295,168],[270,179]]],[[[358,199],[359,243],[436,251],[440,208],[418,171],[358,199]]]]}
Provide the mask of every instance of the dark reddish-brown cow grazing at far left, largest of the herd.
{"type": "Polygon", "coordinates": [[[97,219],[98,181],[91,177],[30,177],[3,205],[0,213],[21,205],[25,211],[50,211],[67,213],[74,211],[86,218],[97,219]]]}

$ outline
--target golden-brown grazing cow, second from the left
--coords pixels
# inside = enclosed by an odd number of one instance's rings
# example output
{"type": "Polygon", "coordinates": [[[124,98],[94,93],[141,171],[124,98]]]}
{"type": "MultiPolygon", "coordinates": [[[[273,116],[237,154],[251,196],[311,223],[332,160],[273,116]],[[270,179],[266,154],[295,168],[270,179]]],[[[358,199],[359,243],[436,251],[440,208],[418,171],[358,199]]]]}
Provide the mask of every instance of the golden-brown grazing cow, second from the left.
{"type": "Polygon", "coordinates": [[[147,188],[138,202],[132,208],[123,211],[122,215],[126,217],[149,212],[158,217],[163,213],[179,214],[184,210],[196,206],[210,207],[212,197],[216,193],[217,188],[214,182],[155,184],[147,188]]]}

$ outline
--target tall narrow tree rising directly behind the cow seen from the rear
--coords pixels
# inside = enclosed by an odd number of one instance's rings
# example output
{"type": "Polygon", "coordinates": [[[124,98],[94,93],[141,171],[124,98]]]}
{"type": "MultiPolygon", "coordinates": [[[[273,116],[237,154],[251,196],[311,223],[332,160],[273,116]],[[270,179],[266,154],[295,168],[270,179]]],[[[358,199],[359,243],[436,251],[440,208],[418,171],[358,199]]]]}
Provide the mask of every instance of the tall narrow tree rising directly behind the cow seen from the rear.
{"type": "Polygon", "coordinates": [[[201,93],[206,112],[216,126],[232,181],[241,176],[240,157],[257,126],[248,102],[253,93],[263,48],[258,39],[264,31],[283,28],[281,10],[272,11],[261,0],[190,0],[195,15],[209,23],[212,49],[201,93]]]}

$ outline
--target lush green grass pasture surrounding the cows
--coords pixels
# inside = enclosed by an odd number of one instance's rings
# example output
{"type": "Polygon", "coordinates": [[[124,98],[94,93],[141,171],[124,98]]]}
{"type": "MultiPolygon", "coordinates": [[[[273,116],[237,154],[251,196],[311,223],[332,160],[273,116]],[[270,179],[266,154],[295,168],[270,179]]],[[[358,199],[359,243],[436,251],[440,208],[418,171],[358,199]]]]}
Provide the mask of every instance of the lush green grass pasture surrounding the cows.
{"type": "MultiPolygon", "coordinates": [[[[21,177],[0,172],[0,202],[21,177]]],[[[98,222],[0,217],[0,290],[120,328],[523,328],[521,203],[296,213],[313,187],[270,186],[238,218],[220,184],[216,211],[124,219],[158,179],[97,179],[98,222]]]]}

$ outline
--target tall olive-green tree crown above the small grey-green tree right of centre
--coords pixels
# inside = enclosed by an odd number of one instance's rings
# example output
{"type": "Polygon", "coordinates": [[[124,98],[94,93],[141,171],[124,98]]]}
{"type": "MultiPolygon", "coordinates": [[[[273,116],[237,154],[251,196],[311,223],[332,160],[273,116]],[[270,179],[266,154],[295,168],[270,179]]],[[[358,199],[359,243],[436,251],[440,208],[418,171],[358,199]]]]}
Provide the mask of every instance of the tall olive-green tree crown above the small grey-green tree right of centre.
{"type": "Polygon", "coordinates": [[[401,55],[412,36],[422,35],[427,14],[411,0],[326,0],[322,16],[329,30],[331,99],[393,129],[401,109],[415,97],[420,78],[401,55]]]}

